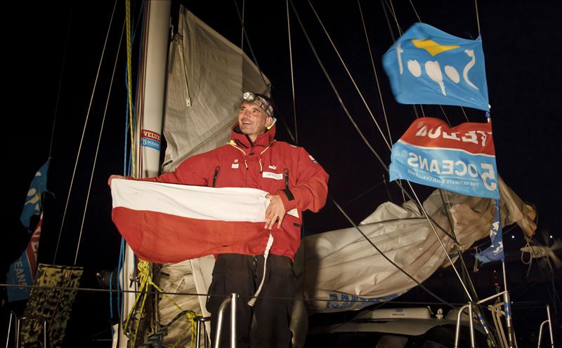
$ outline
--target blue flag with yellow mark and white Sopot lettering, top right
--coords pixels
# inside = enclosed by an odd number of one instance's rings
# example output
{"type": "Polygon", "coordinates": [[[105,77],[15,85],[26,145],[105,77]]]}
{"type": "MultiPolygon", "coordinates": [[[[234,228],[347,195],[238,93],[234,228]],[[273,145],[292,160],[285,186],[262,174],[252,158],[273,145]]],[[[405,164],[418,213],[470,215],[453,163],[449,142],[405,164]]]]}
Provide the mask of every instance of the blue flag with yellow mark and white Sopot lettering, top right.
{"type": "Polygon", "coordinates": [[[383,56],[396,101],[490,111],[482,40],[416,23],[383,56]]]}

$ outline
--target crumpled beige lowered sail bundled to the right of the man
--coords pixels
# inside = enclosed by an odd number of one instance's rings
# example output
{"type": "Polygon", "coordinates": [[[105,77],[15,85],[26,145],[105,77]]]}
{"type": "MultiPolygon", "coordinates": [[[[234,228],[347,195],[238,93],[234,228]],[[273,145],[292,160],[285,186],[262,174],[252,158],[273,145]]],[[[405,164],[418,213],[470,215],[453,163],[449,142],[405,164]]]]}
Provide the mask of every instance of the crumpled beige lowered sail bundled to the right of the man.
{"type": "MultiPolygon", "coordinates": [[[[502,225],[517,223],[525,234],[532,236],[536,229],[535,210],[523,203],[501,178],[499,187],[502,225]]],[[[446,213],[449,211],[461,250],[488,236],[495,215],[493,199],[448,191],[443,194],[445,206],[436,190],[424,201],[424,208],[447,233],[451,230],[446,213]]],[[[449,264],[429,222],[412,201],[402,206],[383,203],[360,225],[362,232],[387,257],[420,283],[439,267],[449,264]]],[[[437,233],[447,253],[456,253],[453,241],[439,229],[437,233]]],[[[355,228],[308,236],[299,251],[300,265],[304,268],[297,273],[303,281],[304,297],[332,300],[307,302],[309,314],[360,309],[374,302],[392,300],[416,286],[355,228]]],[[[298,260],[295,265],[299,265],[298,260]]]]}

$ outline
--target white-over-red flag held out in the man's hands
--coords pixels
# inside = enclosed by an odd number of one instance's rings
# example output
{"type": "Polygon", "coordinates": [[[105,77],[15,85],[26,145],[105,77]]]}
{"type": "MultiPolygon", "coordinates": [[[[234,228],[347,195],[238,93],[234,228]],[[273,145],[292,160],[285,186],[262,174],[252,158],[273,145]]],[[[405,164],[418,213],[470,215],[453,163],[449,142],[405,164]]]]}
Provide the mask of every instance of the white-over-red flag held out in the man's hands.
{"type": "Polygon", "coordinates": [[[177,263],[266,249],[267,192],[114,179],[112,220],[143,260],[177,263]]]}

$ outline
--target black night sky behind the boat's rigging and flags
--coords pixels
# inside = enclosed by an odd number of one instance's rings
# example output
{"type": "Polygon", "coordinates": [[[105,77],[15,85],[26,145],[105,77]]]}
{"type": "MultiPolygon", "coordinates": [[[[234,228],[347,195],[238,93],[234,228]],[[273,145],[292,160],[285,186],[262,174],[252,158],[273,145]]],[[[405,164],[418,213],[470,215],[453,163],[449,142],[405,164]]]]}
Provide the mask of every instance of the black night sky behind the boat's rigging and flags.
{"type": "MultiPolygon", "coordinates": [[[[478,36],[474,1],[413,2],[422,22],[466,39],[476,39],[478,36]]],[[[233,1],[185,0],[183,3],[227,39],[240,45],[240,21],[233,1]]],[[[238,3],[241,7],[242,2],[238,3]]],[[[357,3],[348,1],[346,5],[332,6],[327,1],[313,1],[313,5],[377,121],[384,124],[357,3]]],[[[138,2],[133,4],[136,14],[139,6],[138,2]]],[[[285,6],[285,1],[247,0],[245,18],[250,44],[259,66],[273,83],[277,116],[284,119],[294,131],[285,6]]],[[[398,37],[396,23],[393,19],[390,24],[387,23],[380,1],[363,1],[361,6],[388,123],[392,138],[396,141],[415,118],[411,105],[400,105],[393,99],[388,79],[381,67],[381,56],[393,43],[389,25],[393,35],[398,37]]],[[[404,31],[417,22],[410,1],[393,1],[393,6],[404,31]]],[[[4,127],[8,133],[4,151],[8,154],[8,161],[4,164],[8,189],[4,191],[4,197],[9,226],[8,243],[3,243],[5,257],[17,257],[18,248],[22,247],[18,242],[19,231],[16,231],[18,219],[30,180],[49,156],[56,110],[48,176],[48,189],[53,195],[46,198],[44,230],[39,246],[39,262],[54,261],[72,170],[89,111],[112,7],[113,3],[109,1],[80,1],[75,4],[52,1],[41,6],[12,2],[4,12],[5,17],[13,13],[19,20],[19,25],[5,25],[3,35],[4,72],[8,76],[4,78],[8,93],[4,102],[8,105],[5,110],[9,110],[4,112],[4,127]]],[[[172,12],[176,13],[177,8],[178,3],[174,2],[172,12]]],[[[390,152],[329,46],[310,6],[305,1],[296,1],[296,8],[346,107],[388,165],[390,152]]],[[[562,210],[556,202],[561,194],[558,178],[562,170],[562,147],[558,144],[562,133],[562,30],[558,25],[562,2],[478,1],[478,13],[499,174],[523,201],[537,208],[539,230],[548,230],[549,234],[560,238],[562,232],[558,218],[562,210]]],[[[299,145],[306,147],[330,174],[330,194],[346,208],[355,222],[362,220],[380,203],[388,201],[389,194],[395,203],[401,203],[402,197],[396,185],[388,184],[388,190],[385,188],[384,169],[351,126],[318,67],[294,13],[291,16],[299,145]]],[[[60,236],[56,257],[58,264],[74,264],[96,143],[123,21],[124,1],[119,1],[89,112],[84,143],[81,145],[69,208],[60,236]]],[[[244,49],[251,56],[247,41],[244,41],[244,49]]],[[[82,282],[85,287],[96,286],[94,274],[100,269],[113,269],[119,255],[120,236],[110,220],[110,189],[106,182],[110,174],[123,173],[126,107],[124,64],[122,47],[79,248],[77,265],[86,269],[82,282]]],[[[466,121],[459,107],[443,108],[453,125],[466,121]]],[[[465,110],[471,121],[485,121],[484,112],[469,108],[465,110]]],[[[421,116],[419,107],[417,111],[421,116]]],[[[444,118],[440,108],[433,105],[424,105],[424,114],[444,118]]],[[[290,142],[283,128],[282,122],[277,123],[277,138],[290,142]]],[[[427,187],[414,187],[424,197],[431,192],[427,187]]],[[[307,234],[349,226],[332,203],[327,203],[322,212],[305,215],[305,218],[307,234]]],[[[518,229],[512,233],[515,236],[512,251],[517,254],[518,248],[524,244],[523,238],[518,229]]],[[[95,294],[83,295],[81,301],[99,308],[108,307],[106,297],[95,294]]],[[[81,309],[93,311],[92,308],[81,309]]],[[[98,312],[91,315],[100,322],[99,330],[103,330],[107,326],[103,323],[107,321],[107,310],[98,312]]],[[[81,332],[77,335],[93,335],[93,332],[79,328],[79,324],[71,323],[70,328],[81,332]]]]}

